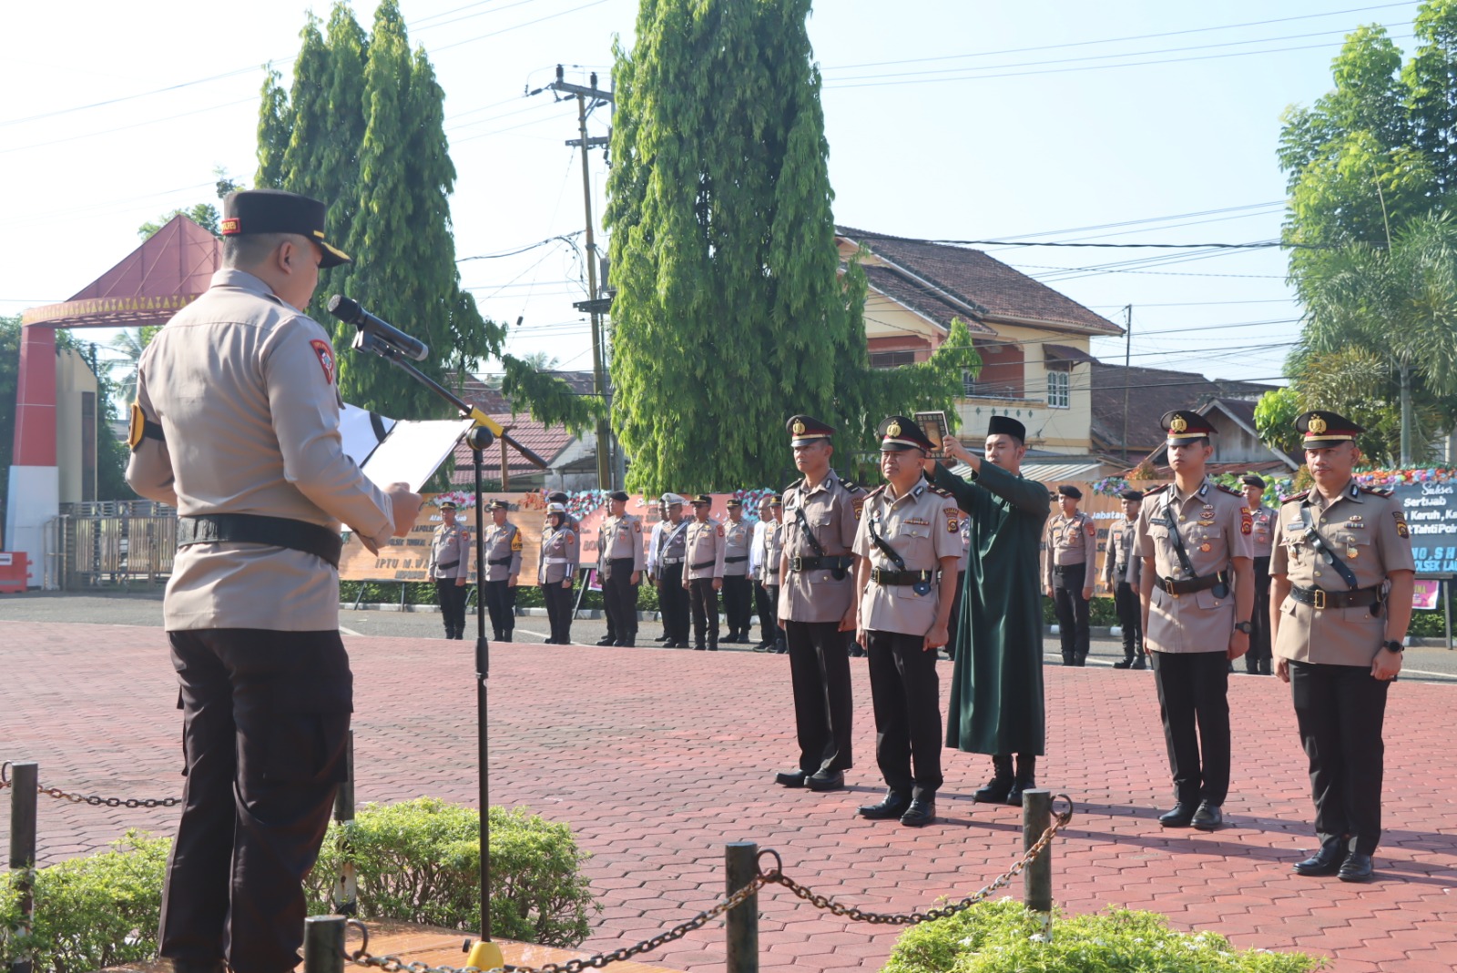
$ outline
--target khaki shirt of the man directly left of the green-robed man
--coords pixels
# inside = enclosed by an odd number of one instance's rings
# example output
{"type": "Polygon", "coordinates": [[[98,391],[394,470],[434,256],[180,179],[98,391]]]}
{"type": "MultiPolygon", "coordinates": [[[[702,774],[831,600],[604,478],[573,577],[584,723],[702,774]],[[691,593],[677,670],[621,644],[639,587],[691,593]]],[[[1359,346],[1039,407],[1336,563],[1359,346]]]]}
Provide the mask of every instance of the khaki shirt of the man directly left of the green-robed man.
{"type": "MultiPolygon", "coordinates": [[[[960,559],[966,551],[962,520],[962,508],[956,505],[956,500],[925,481],[895,498],[890,497],[889,486],[880,486],[865,498],[861,510],[855,554],[867,558],[871,568],[935,572],[941,567],[941,558],[960,559]],[[905,568],[871,539],[871,526],[900,555],[905,568]]],[[[956,565],[950,570],[954,571],[956,565]]],[[[927,584],[930,590],[916,594],[909,584],[868,581],[860,594],[860,626],[874,632],[925,635],[935,625],[941,596],[938,577],[931,577],[927,584]]]]}

